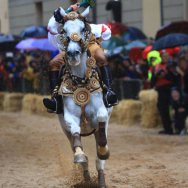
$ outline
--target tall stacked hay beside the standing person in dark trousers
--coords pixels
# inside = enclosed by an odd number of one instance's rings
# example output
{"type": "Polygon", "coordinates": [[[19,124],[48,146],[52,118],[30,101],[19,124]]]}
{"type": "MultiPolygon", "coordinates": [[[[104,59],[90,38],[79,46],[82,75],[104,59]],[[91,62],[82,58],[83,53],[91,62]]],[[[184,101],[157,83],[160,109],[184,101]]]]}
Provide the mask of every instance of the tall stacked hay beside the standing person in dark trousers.
{"type": "Polygon", "coordinates": [[[157,109],[158,93],[151,90],[143,90],[139,93],[142,102],[141,125],[144,128],[154,128],[159,124],[159,113],[157,109]]]}

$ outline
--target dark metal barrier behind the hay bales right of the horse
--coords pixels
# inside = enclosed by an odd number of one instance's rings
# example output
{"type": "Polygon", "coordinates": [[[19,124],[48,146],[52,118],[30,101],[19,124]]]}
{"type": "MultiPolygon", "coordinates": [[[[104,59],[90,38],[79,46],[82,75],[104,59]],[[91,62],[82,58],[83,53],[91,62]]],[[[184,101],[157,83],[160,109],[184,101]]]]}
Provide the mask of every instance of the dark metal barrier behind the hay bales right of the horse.
{"type": "Polygon", "coordinates": [[[143,88],[143,81],[139,79],[114,80],[113,88],[119,100],[138,99],[138,94],[143,88]]]}

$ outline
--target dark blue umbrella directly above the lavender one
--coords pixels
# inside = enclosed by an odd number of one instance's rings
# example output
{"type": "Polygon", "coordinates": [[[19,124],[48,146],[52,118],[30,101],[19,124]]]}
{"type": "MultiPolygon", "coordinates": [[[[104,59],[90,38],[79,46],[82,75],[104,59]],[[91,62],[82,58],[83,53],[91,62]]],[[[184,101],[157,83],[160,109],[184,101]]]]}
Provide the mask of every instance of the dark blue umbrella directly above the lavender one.
{"type": "Polygon", "coordinates": [[[20,36],[22,38],[29,38],[29,37],[47,37],[48,31],[44,26],[30,26],[25,28],[21,33],[20,36]]]}

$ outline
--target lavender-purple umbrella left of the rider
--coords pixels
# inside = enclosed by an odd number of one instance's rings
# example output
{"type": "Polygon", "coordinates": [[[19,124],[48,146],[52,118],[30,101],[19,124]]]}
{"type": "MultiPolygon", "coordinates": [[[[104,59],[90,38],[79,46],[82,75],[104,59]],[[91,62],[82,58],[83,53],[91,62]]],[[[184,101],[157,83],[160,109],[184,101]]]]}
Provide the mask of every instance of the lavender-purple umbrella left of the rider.
{"type": "Polygon", "coordinates": [[[30,38],[20,41],[16,45],[17,49],[20,50],[43,50],[43,51],[56,51],[57,49],[53,47],[48,39],[36,39],[36,38],[30,38]]]}

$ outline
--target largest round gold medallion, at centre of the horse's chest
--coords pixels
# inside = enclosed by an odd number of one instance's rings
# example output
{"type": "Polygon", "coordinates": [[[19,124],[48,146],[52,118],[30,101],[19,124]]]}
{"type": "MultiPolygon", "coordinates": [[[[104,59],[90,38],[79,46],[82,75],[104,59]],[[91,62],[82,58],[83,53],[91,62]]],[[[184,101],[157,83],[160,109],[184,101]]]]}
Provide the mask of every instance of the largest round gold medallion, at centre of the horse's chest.
{"type": "Polygon", "coordinates": [[[73,100],[80,106],[86,105],[90,101],[90,91],[86,88],[77,88],[73,93],[73,100]]]}

